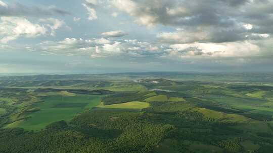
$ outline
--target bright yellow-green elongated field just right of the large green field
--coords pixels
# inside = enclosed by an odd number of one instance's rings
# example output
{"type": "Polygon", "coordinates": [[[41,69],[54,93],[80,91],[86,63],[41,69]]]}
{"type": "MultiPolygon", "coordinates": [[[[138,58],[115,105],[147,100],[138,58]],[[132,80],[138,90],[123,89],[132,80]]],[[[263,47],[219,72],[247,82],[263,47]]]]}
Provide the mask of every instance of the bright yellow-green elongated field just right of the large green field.
{"type": "Polygon", "coordinates": [[[127,102],[122,104],[113,105],[99,105],[98,108],[115,108],[115,109],[144,109],[150,106],[149,103],[145,102],[127,102]]]}

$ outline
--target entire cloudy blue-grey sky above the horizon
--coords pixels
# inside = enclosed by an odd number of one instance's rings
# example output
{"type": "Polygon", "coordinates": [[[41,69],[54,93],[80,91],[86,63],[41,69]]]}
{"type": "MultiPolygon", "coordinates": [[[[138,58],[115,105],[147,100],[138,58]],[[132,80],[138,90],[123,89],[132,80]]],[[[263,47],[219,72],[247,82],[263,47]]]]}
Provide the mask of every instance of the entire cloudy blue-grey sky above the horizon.
{"type": "Polygon", "coordinates": [[[0,73],[273,72],[273,0],[0,0],[0,73]]]}

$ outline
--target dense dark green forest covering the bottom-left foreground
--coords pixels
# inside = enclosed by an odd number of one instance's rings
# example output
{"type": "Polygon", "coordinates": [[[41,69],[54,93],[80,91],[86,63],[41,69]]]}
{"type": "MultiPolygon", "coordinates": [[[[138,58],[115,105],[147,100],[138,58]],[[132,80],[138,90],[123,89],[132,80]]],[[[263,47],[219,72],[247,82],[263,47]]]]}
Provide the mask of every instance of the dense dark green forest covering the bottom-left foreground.
{"type": "Polygon", "coordinates": [[[0,152],[151,152],[173,129],[153,124],[142,112],[91,111],[45,130],[0,131],[0,152]]]}

